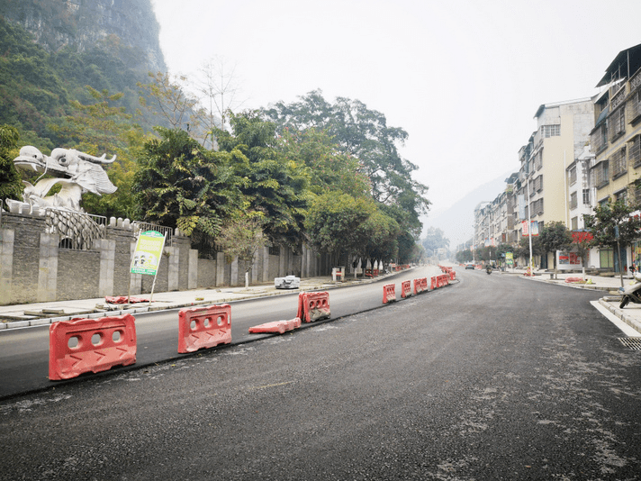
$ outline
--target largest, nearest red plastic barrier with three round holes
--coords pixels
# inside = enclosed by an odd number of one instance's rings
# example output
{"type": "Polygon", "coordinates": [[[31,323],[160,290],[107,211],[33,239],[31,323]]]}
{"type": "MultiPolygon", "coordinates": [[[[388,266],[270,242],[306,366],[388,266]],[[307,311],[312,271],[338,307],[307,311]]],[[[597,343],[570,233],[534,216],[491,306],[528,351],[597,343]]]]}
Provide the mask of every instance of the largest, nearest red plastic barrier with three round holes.
{"type": "Polygon", "coordinates": [[[49,378],[70,379],[136,362],[136,324],[131,314],[60,321],[49,328],[49,378]]]}

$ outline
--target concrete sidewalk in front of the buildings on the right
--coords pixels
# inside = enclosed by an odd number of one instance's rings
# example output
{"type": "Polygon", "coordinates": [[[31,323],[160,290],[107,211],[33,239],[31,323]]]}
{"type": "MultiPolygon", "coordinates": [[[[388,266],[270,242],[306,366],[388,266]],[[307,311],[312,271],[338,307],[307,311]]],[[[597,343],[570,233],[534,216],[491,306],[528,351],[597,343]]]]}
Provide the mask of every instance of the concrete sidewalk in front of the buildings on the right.
{"type": "MultiPolygon", "coordinates": [[[[613,313],[621,321],[625,322],[628,326],[638,332],[641,336],[641,304],[627,304],[624,309],[620,309],[618,304],[621,302],[621,296],[618,295],[618,288],[621,286],[621,278],[618,274],[614,277],[593,276],[586,274],[582,276],[581,273],[566,274],[559,272],[551,275],[550,272],[545,270],[534,271],[533,277],[525,276],[525,269],[507,269],[501,274],[515,275],[523,277],[524,279],[545,282],[547,284],[554,284],[556,286],[572,287],[574,289],[593,289],[603,291],[603,297],[599,299],[601,304],[610,313],[613,313]],[[555,277],[555,278],[552,278],[555,277]],[[566,280],[583,279],[583,282],[567,282],[566,280]]],[[[623,276],[623,286],[634,284],[631,276],[623,276]]]]}

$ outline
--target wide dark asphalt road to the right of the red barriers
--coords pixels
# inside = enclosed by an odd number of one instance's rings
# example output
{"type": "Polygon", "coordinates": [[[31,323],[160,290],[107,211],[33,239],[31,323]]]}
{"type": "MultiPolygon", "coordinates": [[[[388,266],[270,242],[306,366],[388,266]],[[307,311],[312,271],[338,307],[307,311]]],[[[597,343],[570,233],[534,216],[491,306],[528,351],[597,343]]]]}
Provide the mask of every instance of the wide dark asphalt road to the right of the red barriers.
{"type": "Polygon", "coordinates": [[[459,271],[384,309],[0,403],[0,479],[639,479],[599,293],[459,271]]]}

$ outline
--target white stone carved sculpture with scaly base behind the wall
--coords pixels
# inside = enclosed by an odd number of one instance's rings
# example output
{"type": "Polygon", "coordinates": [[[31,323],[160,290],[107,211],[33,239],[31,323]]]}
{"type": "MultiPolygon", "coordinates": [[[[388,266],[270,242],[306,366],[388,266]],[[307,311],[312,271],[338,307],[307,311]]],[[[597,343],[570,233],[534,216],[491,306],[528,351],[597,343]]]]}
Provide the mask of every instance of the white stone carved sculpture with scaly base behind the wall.
{"type": "Polygon", "coordinates": [[[95,157],[73,149],[54,149],[51,155],[44,155],[31,145],[20,150],[14,159],[18,168],[33,169],[42,176],[35,186],[25,184],[23,201],[7,200],[11,207],[28,207],[45,211],[45,220],[50,233],[58,233],[61,245],[69,249],[90,250],[96,239],[104,235],[104,225],[99,225],[80,206],[82,195],[93,192],[96,195],[113,194],[118,187],[114,186],[102,167],[116,159],[106,159],[106,155],[95,157]],[[48,195],[53,186],[59,185],[60,191],[48,195]]]}

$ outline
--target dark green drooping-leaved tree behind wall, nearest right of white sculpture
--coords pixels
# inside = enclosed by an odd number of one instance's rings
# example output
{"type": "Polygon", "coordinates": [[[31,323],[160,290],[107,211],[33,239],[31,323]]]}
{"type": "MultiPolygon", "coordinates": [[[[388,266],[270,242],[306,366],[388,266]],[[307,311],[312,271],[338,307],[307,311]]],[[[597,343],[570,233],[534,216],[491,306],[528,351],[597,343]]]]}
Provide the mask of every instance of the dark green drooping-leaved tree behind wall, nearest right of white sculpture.
{"type": "Polygon", "coordinates": [[[145,143],[134,179],[140,215],[213,245],[241,207],[235,168],[248,160],[239,150],[206,150],[185,131],[158,127],[158,133],[160,139],[145,143]]]}

